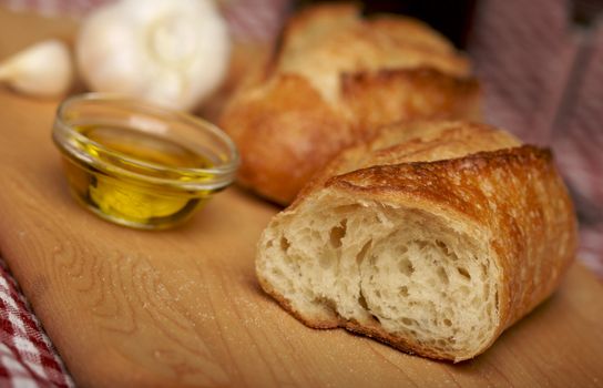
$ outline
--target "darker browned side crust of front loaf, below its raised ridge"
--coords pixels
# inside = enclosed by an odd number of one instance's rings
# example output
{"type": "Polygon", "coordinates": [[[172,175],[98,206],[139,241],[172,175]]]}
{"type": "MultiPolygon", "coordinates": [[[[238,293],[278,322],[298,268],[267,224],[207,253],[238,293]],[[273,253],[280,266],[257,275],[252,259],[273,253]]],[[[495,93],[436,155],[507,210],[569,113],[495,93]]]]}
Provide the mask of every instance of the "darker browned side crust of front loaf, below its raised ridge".
{"type": "Polygon", "coordinates": [[[456,160],[372,166],[335,176],[325,187],[437,210],[488,231],[501,274],[500,326],[491,343],[551,295],[575,257],[573,206],[548,150],[524,145],[456,160]]]}

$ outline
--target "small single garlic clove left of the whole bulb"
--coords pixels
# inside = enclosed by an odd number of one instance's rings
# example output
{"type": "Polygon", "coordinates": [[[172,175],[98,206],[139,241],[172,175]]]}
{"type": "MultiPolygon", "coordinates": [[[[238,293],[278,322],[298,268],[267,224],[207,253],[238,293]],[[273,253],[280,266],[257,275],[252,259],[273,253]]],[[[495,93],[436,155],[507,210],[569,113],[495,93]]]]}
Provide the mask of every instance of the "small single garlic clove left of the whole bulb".
{"type": "Polygon", "coordinates": [[[65,93],[73,81],[73,65],[67,44],[47,40],[0,63],[0,82],[37,96],[65,93]]]}

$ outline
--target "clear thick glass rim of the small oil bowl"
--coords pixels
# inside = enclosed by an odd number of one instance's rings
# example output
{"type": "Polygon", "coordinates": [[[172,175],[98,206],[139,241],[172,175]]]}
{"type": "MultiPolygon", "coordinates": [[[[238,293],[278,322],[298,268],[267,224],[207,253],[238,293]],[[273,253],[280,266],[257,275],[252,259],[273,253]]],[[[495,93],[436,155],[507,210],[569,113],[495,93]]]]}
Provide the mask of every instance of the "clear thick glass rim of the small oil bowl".
{"type": "MultiPolygon", "coordinates": [[[[132,127],[133,130],[139,130],[136,125],[127,125],[129,127],[132,127]]],[[[190,113],[168,109],[165,106],[161,106],[151,102],[141,101],[127,96],[123,96],[120,94],[112,94],[112,93],[82,93],[72,95],[68,99],[65,99],[63,102],[59,104],[59,108],[57,109],[57,114],[54,118],[53,123],[53,131],[52,131],[52,137],[59,149],[63,151],[68,156],[75,157],[76,160],[83,162],[86,166],[93,165],[100,169],[101,171],[111,171],[112,174],[115,174],[115,172],[120,175],[130,176],[133,178],[137,178],[139,181],[144,182],[153,182],[153,183],[160,183],[160,184],[172,184],[177,186],[202,186],[202,188],[208,188],[207,186],[225,186],[234,180],[234,175],[238,169],[239,165],[239,154],[236,149],[235,143],[233,140],[224,132],[222,131],[217,125],[194,116],[190,113]],[[73,104],[80,103],[80,102],[99,102],[99,103],[112,103],[115,106],[123,105],[127,106],[132,110],[132,112],[140,112],[147,115],[153,116],[157,120],[165,120],[166,118],[170,118],[173,121],[183,122],[196,130],[200,130],[202,132],[208,132],[209,134],[216,136],[219,142],[224,143],[226,145],[227,152],[226,157],[227,161],[214,165],[212,167],[205,167],[205,169],[197,169],[197,167],[172,167],[162,165],[160,163],[150,163],[142,161],[140,159],[126,155],[124,153],[121,153],[119,151],[112,150],[111,147],[108,147],[101,143],[98,143],[93,141],[92,139],[88,137],[86,135],[83,135],[82,133],[74,130],[73,125],[70,124],[65,120],[65,111],[72,106],[73,104]],[[102,159],[95,157],[91,153],[88,153],[83,151],[82,149],[71,144],[69,142],[69,139],[74,139],[81,144],[91,144],[94,145],[94,147],[98,147],[99,150],[106,152],[111,155],[117,155],[121,160],[126,161],[129,164],[133,164],[135,166],[140,166],[146,170],[150,170],[152,172],[171,172],[171,173],[182,173],[187,174],[188,176],[191,174],[193,175],[200,175],[203,176],[203,182],[197,181],[178,181],[177,178],[170,178],[170,177],[159,177],[159,176],[152,176],[147,174],[136,173],[126,169],[123,169],[116,164],[110,163],[108,161],[104,161],[102,159]],[[207,176],[213,176],[213,178],[207,180],[207,176]]]]}

